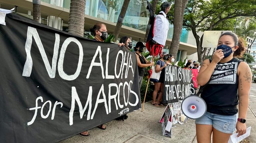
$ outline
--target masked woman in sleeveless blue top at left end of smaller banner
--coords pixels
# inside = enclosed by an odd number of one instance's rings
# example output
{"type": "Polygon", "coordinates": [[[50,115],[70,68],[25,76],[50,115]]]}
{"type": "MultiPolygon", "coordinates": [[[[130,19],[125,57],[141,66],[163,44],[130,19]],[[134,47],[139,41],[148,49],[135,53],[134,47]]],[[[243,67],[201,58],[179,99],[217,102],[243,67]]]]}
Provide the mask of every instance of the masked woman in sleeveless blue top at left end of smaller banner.
{"type": "Polygon", "coordinates": [[[162,104],[162,98],[163,98],[163,88],[164,88],[164,68],[166,67],[166,63],[164,62],[164,59],[168,59],[169,54],[167,54],[166,52],[163,52],[162,57],[160,57],[160,59],[156,62],[155,65],[155,72],[158,73],[160,71],[160,78],[158,82],[154,82],[155,85],[155,89],[153,91],[153,101],[152,104],[154,106],[159,106],[159,105],[163,105],[162,104]],[[158,94],[159,92],[159,94],[158,94]],[[158,98],[156,99],[158,94],[158,98]]]}

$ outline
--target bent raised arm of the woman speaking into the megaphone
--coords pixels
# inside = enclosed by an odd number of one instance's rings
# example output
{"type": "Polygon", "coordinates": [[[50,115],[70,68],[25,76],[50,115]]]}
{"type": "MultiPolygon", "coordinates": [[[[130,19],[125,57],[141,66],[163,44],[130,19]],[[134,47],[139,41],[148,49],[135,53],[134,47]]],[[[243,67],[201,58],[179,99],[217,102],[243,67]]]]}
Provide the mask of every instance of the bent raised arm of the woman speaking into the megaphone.
{"type": "Polygon", "coordinates": [[[197,83],[200,86],[205,85],[211,78],[212,72],[214,71],[217,63],[224,57],[222,49],[216,50],[213,54],[212,61],[206,59],[201,63],[199,73],[197,75],[197,83]]]}

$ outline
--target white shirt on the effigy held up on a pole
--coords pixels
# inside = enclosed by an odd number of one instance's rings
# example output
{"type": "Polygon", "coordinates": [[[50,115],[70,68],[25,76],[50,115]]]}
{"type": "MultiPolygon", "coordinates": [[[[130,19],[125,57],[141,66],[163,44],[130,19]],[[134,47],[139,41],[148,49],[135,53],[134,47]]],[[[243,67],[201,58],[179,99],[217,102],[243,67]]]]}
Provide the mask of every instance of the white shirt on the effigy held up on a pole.
{"type": "Polygon", "coordinates": [[[155,17],[153,40],[161,45],[165,45],[169,30],[169,21],[167,20],[166,14],[163,11],[161,11],[160,13],[162,13],[163,15],[158,14],[155,17]]]}

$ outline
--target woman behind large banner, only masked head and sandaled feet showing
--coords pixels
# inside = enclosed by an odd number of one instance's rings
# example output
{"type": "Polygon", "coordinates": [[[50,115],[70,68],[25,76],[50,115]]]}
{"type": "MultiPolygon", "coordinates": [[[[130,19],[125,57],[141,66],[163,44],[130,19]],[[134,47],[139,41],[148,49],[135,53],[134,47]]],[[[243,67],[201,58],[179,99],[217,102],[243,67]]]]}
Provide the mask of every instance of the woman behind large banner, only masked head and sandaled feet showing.
{"type": "MultiPolygon", "coordinates": [[[[105,39],[108,38],[108,32],[107,32],[107,27],[103,23],[97,23],[93,26],[93,28],[90,28],[91,33],[95,37],[94,40],[96,41],[104,41],[105,39]]],[[[104,124],[101,124],[98,126],[98,128],[105,130],[106,126],[104,124]]],[[[80,135],[82,136],[89,136],[88,131],[81,132],[80,135]]]]}

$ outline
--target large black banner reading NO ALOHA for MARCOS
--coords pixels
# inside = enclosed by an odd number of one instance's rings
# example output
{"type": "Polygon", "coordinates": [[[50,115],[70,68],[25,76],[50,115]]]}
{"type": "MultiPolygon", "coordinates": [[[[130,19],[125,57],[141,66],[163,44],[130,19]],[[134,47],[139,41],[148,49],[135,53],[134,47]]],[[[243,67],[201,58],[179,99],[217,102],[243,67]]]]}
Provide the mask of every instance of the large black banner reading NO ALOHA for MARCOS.
{"type": "Polygon", "coordinates": [[[10,14],[0,25],[0,142],[57,142],[141,107],[135,53],[10,14]]]}

